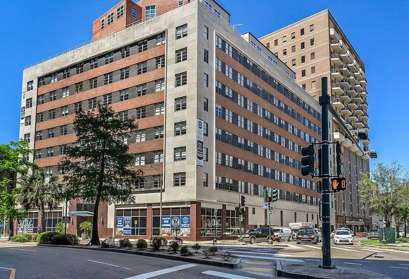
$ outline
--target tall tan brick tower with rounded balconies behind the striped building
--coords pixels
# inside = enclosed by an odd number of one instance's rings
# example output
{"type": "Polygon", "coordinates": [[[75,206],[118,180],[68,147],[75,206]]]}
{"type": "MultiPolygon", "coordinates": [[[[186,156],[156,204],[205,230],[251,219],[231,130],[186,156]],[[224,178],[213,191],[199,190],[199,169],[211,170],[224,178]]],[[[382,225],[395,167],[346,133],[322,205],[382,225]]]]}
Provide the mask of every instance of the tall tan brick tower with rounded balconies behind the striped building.
{"type": "MultiPolygon", "coordinates": [[[[295,72],[296,81],[316,99],[321,96],[321,77],[328,77],[332,105],[348,129],[369,133],[365,65],[328,9],[267,34],[260,41],[295,72]]],[[[369,172],[369,139],[358,146],[345,137],[334,118],[331,126],[330,139],[346,147],[348,182],[348,189],[336,194],[332,204],[335,225],[364,231],[372,227],[372,221],[357,184],[361,172],[369,172]]],[[[333,164],[331,168],[335,171],[333,164]]]]}

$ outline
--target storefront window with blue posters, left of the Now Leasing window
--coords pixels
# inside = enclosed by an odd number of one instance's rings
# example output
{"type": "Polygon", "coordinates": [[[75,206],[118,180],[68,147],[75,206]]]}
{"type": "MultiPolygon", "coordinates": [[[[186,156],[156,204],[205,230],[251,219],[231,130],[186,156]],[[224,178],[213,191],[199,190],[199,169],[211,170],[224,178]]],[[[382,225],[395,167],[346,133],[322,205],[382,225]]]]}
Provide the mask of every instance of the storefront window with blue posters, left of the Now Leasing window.
{"type": "Polygon", "coordinates": [[[115,234],[146,235],[146,209],[117,209],[115,234]]]}

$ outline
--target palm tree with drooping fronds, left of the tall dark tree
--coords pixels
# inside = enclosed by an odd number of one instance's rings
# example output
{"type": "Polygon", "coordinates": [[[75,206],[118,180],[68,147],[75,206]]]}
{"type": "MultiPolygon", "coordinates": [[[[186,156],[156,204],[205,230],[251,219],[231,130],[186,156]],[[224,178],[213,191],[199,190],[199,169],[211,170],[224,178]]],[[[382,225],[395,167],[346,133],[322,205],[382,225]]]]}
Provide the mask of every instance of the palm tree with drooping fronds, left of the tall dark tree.
{"type": "Polygon", "coordinates": [[[25,210],[38,208],[41,211],[41,232],[45,232],[45,207],[56,208],[61,201],[61,186],[57,176],[45,180],[42,169],[33,169],[21,178],[18,201],[25,210]]]}

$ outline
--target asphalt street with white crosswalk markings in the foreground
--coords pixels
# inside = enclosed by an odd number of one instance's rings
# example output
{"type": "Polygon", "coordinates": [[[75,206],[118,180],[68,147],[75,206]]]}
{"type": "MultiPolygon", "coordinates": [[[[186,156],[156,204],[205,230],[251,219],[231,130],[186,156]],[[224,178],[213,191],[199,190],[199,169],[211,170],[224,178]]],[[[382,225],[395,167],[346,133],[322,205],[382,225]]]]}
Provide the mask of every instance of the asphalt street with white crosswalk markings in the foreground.
{"type": "MultiPolygon", "coordinates": [[[[240,269],[231,270],[112,252],[0,243],[0,279],[10,278],[8,269],[15,269],[15,279],[267,279],[274,278],[276,259],[314,265],[321,261],[321,244],[282,242],[279,245],[273,248],[219,246],[219,252],[229,251],[242,259],[240,269]]],[[[409,278],[407,251],[385,251],[355,243],[354,246],[332,246],[332,257],[336,266],[364,269],[392,279],[409,278]]]]}

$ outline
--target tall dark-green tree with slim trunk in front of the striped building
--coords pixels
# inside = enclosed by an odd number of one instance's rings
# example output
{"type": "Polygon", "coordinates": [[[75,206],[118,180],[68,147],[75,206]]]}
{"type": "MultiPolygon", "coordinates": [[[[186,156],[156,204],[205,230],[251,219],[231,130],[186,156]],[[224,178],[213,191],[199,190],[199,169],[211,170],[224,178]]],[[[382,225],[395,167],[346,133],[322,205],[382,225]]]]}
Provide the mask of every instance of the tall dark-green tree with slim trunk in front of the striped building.
{"type": "Polygon", "coordinates": [[[100,245],[98,208],[100,202],[131,203],[133,185],[139,182],[142,170],[129,168],[134,156],[126,139],[138,129],[134,119],[121,119],[111,107],[98,103],[97,110],[77,112],[74,131],[77,143],[67,148],[61,168],[72,197],[93,202],[91,245],[100,245]]]}

